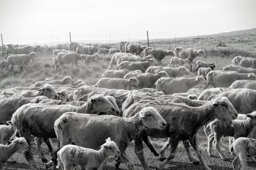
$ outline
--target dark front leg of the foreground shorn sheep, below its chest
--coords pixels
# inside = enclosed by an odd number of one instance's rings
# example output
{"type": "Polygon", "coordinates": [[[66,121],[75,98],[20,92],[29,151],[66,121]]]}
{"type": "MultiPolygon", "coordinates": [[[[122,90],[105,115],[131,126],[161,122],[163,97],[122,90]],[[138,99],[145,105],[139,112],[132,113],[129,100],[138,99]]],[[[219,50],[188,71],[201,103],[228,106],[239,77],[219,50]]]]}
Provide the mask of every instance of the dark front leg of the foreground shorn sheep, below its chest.
{"type": "Polygon", "coordinates": [[[144,152],[143,152],[143,141],[140,135],[136,135],[134,138],[134,143],[135,143],[135,148],[134,152],[136,153],[138,159],[140,160],[140,163],[145,170],[149,170],[148,164],[145,160],[144,157],[144,152]]]}

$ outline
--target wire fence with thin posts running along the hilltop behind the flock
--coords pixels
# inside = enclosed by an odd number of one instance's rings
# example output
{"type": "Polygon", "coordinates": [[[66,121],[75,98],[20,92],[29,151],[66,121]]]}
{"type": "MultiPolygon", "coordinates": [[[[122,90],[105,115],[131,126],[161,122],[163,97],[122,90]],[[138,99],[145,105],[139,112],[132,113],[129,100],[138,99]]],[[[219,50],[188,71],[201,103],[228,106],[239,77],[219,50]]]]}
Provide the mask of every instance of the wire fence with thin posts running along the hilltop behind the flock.
{"type": "MultiPolygon", "coordinates": [[[[81,43],[118,43],[120,41],[140,42],[147,45],[147,32],[128,32],[124,34],[72,34],[72,41],[81,43]]],[[[177,34],[168,32],[148,32],[150,46],[162,48],[175,48],[184,46],[191,48],[216,47],[218,44],[228,48],[243,50],[256,50],[256,34],[243,34],[240,36],[204,36],[199,34],[177,34]]],[[[24,45],[56,46],[70,42],[69,33],[52,36],[4,36],[3,43],[24,45]]]]}

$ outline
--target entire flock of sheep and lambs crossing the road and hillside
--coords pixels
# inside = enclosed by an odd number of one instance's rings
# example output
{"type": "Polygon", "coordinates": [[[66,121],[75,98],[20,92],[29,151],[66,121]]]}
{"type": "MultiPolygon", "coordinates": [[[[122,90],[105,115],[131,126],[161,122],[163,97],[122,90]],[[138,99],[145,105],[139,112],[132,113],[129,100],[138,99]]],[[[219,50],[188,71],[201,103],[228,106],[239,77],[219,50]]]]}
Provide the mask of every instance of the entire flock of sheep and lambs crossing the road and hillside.
{"type": "MultiPolygon", "coordinates": [[[[26,66],[36,57],[28,47],[23,48],[24,53],[15,48],[8,46],[12,55],[0,67],[26,66]]],[[[149,166],[143,142],[159,156],[161,162],[156,168],[163,169],[175,157],[179,141],[193,164],[210,169],[196,140],[202,127],[209,156],[214,145],[221,159],[227,160],[220,139],[229,136],[230,152],[237,155],[234,169],[247,168],[247,156],[254,160],[256,155],[256,59],[237,56],[222,70],[198,60],[193,69],[196,57],[207,57],[205,50],[162,50],[125,41],[118,43],[118,48],[72,42],[68,50],[53,50],[56,71],[65,69],[64,64],[78,66],[79,60],[97,62],[99,56],[111,56],[108,70],[95,85],[66,76],[1,92],[0,169],[8,159],[15,161],[12,155],[18,150],[24,150],[31,169],[38,169],[31,153],[31,136],[49,169],[103,169],[110,157],[116,158],[116,168],[124,163],[127,169],[136,169],[125,152],[132,140],[144,169],[149,166]],[[172,58],[164,67],[161,60],[166,56],[172,58]],[[116,69],[111,69],[114,65],[116,69]],[[197,76],[184,76],[193,71],[197,76]],[[52,138],[58,139],[58,150],[53,149],[52,138]],[[168,141],[158,152],[150,138],[168,141]],[[6,145],[8,141],[10,145],[6,145]],[[51,152],[50,161],[42,153],[42,142],[51,152]],[[190,145],[199,160],[191,154],[190,145]],[[166,157],[168,147],[170,154],[166,157]]]]}

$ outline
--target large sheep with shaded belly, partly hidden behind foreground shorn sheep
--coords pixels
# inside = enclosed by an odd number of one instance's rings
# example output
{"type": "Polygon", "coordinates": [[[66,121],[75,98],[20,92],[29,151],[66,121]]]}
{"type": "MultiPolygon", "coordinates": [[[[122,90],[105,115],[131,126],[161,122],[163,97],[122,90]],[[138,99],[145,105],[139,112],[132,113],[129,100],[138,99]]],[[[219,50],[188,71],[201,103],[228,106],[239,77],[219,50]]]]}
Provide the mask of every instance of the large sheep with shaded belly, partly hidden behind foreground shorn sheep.
{"type": "MultiPolygon", "coordinates": [[[[71,105],[25,104],[13,113],[12,124],[16,127],[21,137],[24,137],[31,146],[31,134],[37,138],[43,138],[50,152],[53,154],[50,138],[56,138],[54,121],[63,113],[76,111],[77,113],[111,114],[119,115],[119,110],[103,95],[90,97],[81,107],[71,105]]],[[[40,143],[39,143],[40,144],[40,143]]],[[[40,146],[39,146],[40,148],[40,146]]],[[[41,153],[41,151],[39,151],[41,153]]],[[[31,156],[31,150],[25,154],[31,169],[36,169],[36,164],[31,156]]],[[[43,157],[43,162],[47,159],[43,157]]]]}

